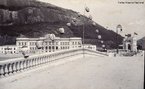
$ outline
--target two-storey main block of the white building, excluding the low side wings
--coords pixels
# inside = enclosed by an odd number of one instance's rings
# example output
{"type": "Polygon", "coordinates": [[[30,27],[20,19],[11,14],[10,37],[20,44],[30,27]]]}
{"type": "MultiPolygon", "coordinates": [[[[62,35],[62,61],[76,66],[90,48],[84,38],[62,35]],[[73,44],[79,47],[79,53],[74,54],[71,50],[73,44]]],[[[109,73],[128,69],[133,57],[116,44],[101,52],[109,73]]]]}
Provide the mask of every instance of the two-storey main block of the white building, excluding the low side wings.
{"type": "Polygon", "coordinates": [[[72,48],[81,48],[82,39],[79,37],[60,38],[53,34],[47,34],[40,38],[17,38],[16,46],[18,52],[23,46],[27,46],[29,53],[36,52],[55,52],[57,50],[67,50],[72,48]]]}

